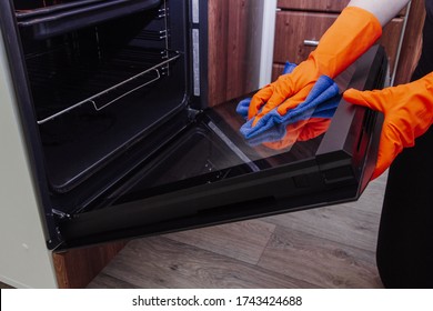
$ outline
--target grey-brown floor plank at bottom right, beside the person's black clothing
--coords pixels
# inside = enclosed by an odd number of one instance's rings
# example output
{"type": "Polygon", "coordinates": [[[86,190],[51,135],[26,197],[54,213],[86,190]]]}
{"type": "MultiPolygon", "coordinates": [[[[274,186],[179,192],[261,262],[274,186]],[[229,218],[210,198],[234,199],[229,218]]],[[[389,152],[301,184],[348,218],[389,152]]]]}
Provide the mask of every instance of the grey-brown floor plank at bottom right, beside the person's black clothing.
{"type": "Polygon", "coordinates": [[[259,267],[322,288],[381,288],[373,257],[372,252],[279,227],[259,267]]]}

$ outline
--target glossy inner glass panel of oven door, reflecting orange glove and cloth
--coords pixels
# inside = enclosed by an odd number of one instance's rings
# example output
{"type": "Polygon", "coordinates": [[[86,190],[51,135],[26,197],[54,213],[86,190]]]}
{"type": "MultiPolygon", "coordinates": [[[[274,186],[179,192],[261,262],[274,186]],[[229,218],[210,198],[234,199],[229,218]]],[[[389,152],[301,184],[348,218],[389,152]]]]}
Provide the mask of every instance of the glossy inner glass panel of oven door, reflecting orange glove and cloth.
{"type": "Polygon", "coordinates": [[[245,139],[240,132],[245,120],[235,111],[238,102],[200,116],[183,139],[138,173],[129,194],[122,194],[117,203],[312,159],[332,122],[332,116],[312,117],[313,109],[299,121],[276,124],[262,136],[245,139]]]}

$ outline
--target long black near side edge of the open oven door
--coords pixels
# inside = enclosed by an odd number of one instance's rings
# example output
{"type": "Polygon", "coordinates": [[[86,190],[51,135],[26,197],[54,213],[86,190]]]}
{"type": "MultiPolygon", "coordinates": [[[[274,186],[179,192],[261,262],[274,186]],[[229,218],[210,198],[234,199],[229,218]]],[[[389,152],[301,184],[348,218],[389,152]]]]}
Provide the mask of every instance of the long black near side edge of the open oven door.
{"type": "MultiPolygon", "coordinates": [[[[358,183],[294,189],[299,175],[318,178],[313,159],[190,189],[77,214],[60,225],[66,244],[74,248],[145,237],[356,200],[358,183]],[[289,197],[285,197],[290,188],[289,197]]],[[[314,185],[313,185],[314,187],[314,185]]]]}

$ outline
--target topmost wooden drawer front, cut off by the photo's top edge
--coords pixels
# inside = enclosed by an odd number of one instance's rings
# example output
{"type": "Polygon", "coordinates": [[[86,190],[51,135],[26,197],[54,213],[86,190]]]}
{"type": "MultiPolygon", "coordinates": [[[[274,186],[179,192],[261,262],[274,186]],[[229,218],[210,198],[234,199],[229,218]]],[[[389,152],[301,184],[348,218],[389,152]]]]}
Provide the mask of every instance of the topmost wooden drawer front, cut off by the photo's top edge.
{"type": "Polygon", "coordinates": [[[279,0],[281,9],[293,9],[303,11],[341,12],[350,0],[279,0]]]}

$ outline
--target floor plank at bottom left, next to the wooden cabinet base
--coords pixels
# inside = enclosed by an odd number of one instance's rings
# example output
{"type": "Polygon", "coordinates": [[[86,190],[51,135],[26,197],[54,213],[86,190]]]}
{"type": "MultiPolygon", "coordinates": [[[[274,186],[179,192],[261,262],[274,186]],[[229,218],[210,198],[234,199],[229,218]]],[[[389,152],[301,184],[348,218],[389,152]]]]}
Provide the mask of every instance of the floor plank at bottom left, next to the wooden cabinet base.
{"type": "MultiPolygon", "coordinates": [[[[133,288],[311,288],[302,280],[163,237],[131,241],[102,271],[133,288]]],[[[89,288],[108,284],[97,278],[89,288]]]]}

